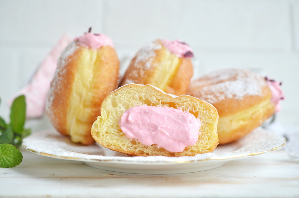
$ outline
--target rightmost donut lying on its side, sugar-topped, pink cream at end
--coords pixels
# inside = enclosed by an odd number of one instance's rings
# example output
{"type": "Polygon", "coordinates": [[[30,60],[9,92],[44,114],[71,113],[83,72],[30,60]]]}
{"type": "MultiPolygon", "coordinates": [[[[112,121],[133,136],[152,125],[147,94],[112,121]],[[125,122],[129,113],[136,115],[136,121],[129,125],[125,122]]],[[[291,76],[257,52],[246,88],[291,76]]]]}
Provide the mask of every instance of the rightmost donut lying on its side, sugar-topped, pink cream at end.
{"type": "Polygon", "coordinates": [[[280,83],[246,69],[223,69],[190,83],[187,95],[211,103],[218,111],[219,144],[250,133],[280,110],[280,83]]]}

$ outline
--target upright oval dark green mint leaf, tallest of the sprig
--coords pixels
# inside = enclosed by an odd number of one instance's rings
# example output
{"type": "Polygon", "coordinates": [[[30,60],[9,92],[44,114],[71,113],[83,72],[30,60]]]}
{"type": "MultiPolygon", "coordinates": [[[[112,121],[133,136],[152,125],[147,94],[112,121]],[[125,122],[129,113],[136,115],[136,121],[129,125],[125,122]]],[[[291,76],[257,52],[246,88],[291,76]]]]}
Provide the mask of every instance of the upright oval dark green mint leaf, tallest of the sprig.
{"type": "Polygon", "coordinates": [[[25,96],[21,95],[13,101],[10,112],[10,125],[17,134],[22,134],[25,124],[26,102],[25,96]]]}

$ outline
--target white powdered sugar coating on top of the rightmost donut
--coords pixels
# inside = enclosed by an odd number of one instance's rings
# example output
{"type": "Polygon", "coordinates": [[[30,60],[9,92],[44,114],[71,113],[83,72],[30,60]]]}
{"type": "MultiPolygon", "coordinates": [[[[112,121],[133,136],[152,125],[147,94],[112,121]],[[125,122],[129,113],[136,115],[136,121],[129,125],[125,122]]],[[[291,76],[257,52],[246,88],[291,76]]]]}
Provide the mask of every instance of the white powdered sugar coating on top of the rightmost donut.
{"type": "Polygon", "coordinates": [[[214,72],[194,81],[192,87],[203,86],[197,93],[208,103],[217,103],[232,98],[241,100],[245,96],[262,95],[266,86],[264,78],[245,69],[228,69],[214,72]]]}

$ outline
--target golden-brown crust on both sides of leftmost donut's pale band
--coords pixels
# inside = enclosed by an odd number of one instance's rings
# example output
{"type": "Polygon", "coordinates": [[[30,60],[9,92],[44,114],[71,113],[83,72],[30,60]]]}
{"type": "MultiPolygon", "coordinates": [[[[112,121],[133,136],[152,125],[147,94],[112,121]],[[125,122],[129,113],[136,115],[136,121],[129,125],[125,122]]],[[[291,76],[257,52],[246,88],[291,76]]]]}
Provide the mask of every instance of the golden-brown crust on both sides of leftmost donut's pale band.
{"type": "MultiPolygon", "coordinates": [[[[77,45],[74,53],[67,57],[64,61],[67,64],[58,64],[56,76],[51,82],[51,91],[48,95],[47,115],[54,128],[63,135],[70,135],[67,130],[67,114],[70,103],[70,95],[74,84],[78,63],[80,62],[81,51],[84,48],[77,45]],[[52,102],[49,100],[52,98],[52,102]]],[[[90,130],[93,122],[100,115],[100,106],[104,98],[117,88],[119,60],[114,48],[103,46],[97,50],[97,60],[95,63],[93,80],[90,85],[92,95],[91,103],[87,104],[91,108],[91,114],[86,115],[87,123],[90,125],[90,130]]],[[[85,132],[85,136],[80,141],[84,145],[94,143],[90,130],[85,132]]]]}

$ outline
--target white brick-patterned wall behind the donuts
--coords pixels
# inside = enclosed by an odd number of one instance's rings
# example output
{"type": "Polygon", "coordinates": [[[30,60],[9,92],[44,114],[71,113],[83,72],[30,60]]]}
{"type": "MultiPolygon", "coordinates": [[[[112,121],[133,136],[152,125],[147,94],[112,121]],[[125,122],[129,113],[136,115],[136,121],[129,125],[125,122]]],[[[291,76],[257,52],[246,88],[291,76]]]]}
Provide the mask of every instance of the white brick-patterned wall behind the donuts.
{"type": "Polygon", "coordinates": [[[181,39],[193,48],[194,77],[229,67],[282,81],[277,120],[299,124],[298,0],[0,0],[2,117],[62,34],[89,27],[112,38],[123,68],[147,42],[181,39]]]}

